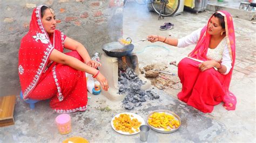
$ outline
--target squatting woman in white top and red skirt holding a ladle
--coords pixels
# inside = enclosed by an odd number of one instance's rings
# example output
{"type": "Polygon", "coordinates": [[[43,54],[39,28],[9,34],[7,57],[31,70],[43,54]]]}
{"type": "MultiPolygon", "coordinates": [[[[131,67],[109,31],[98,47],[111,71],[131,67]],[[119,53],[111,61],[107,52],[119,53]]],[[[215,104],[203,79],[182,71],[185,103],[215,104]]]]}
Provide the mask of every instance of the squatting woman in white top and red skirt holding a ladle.
{"type": "Polygon", "coordinates": [[[215,12],[208,24],[184,38],[149,35],[149,41],[186,47],[197,44],[187,58],[178,64],[178,76],[183,87],[178,98],[207,113],[224,102],[227,110],[235,110],[237,99],[228,90],[235,61],[233,20],[226,11],[215,12]],[[200,61],[199,61],[200,60],[200,61]]]}

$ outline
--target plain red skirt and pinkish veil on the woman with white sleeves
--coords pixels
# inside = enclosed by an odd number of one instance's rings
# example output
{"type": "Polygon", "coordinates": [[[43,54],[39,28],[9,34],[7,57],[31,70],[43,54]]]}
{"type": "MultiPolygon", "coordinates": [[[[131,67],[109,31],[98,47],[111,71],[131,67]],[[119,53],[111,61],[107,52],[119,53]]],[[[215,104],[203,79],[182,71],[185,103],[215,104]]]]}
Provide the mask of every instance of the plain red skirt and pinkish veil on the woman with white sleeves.
{"type": "MultiPolygon", "coordinates": [[[[230,13],[226,11],[218,11],[218,13],[224,16],[227,45],[232,60],[230,72],[223,75],[213,68],[201,71],[198,68],[199,62],[188,58],[181,60],[178,65],[178,76],[183,85],[178,98],[204,113],[212,112],[214,105],[220,102],[224,102],[225,109],[235,110],[237,103],[235,96],[228,90],[235,61],[233,20],[230,13]]],[[[203,61],[208,60],[206,53],[211,35],[207,33],[207,29],[207,26],[203,28],[196,47],[188,56],[203,61]]]]}

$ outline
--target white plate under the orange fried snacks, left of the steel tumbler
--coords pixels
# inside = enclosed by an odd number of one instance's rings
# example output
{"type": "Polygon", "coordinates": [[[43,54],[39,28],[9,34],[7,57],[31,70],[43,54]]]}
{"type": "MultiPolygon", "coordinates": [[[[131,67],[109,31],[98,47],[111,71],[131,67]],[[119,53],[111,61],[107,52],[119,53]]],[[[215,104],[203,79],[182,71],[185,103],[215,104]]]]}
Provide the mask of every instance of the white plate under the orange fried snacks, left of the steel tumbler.
{"type": "MultiPolygon", "coordinates": [[[[144,121],[144,119],[142,118],[142,117],[140,117],[139,115],[137,115],[136,113],[130,113],[130,112],[123,112],[123,113],[119,113],[118,115],[116,115],[116,116],[114,116],[114,117],[119,117],[120,116],[120,114],[127,114],[127,115],[130,115],[130,118],[131,119],[134,119],[134,118],[137,118],[138,119],[138,121],[140,121],[142,124],[140,124],[140,125],[145,125],[145,121],[144,121]],[[131,115],[133,116],[133,117],[131,117],[131,115]]],[[[113,124],[113,120],[114,120],[114,117],[112,118],[112,120],[111,120],[111,126],[112,126],[112,128],[114,129],[114,131],[116,131],[116,132],[118,132],[118,133],[120,133],[120,134],[126,134],[126,135],[132,135],[132,134],[136,134],[136,133],[139,133],[139,131],[138,132],[136,132],[136,130],[134,130],[134,128],[132,128],[132,130],[134,131],[134,133],[129,133],[129,132],[123,132],[123,131],[117,131],[116,130],[116,128],[114,128],[114,124],[113,124]]],[[[139,129],[139,128],[138,128],[139,129]]]]}

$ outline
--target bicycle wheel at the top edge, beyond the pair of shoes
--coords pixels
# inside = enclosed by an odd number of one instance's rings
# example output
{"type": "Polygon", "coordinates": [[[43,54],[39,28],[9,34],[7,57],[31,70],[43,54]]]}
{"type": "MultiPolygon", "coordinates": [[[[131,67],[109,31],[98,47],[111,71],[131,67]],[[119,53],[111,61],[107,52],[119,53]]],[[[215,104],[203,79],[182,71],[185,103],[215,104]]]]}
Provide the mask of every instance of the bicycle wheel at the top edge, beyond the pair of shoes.
{"type": "MultiPolygon", "coordinates": [[[[161,11],[161,0],[151,0],[151,6],[154,11],[156,11],[158,14],[160,14],[161,11]]],[[[164,13],[161,13],[161,16],[172,16],[174,13],[177,12],[179,9],[180,0],[168,0],[169,3],[166,4],[166,8],[164,13]]]]}

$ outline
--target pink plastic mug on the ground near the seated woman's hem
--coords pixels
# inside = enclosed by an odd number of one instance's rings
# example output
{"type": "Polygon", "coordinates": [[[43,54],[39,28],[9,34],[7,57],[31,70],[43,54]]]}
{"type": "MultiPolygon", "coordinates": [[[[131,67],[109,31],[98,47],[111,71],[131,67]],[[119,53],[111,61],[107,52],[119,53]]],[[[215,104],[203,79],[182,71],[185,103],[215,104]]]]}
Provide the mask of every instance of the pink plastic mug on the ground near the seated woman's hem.
{"type": "Polygon", "coordinates": [[[62,114],[55,119],[59,133],[68,134],[71,131],[71,118],[68,114],[62,114]]]}

